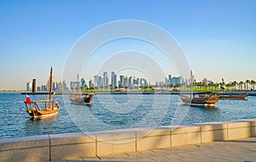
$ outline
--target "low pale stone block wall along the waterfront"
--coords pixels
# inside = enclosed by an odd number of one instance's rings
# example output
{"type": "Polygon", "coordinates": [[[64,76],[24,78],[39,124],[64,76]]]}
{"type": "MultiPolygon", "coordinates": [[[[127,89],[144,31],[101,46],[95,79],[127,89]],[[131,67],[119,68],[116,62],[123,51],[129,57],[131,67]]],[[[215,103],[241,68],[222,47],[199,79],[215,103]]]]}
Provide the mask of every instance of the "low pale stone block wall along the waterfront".
{"type": "Polygon", "coordinates": [[[0,161],[78,159],[256,137],[256,119],[0,139],[0,161]]]}

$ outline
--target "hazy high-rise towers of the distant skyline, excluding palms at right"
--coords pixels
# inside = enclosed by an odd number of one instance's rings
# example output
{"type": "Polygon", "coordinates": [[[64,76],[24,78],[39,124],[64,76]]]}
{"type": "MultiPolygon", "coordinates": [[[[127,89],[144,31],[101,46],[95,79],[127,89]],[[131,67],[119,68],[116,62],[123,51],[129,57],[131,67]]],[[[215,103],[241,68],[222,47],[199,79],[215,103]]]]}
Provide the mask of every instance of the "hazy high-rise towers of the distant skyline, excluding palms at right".
{"type": "MultiPolygon", "coordinates": [[[[117,75],[115,71],[109,72],[105,71],[103,72],[102,75],[94,75],[93,78],[90,78],[88,80],[85,80],[84,77],[79,79],[79,74],[77,75],[77,80],[76,81],[69,81],[69,87],[68,82],[66,81],[53,81],[53,90],[61,90],[63,89],[75,89],[76,87],[85,87],[85,85],[90,88],[90,87],[98,87],[98,88],[112,88],[112,89],[117,89],[119,86],[122,87],[150,87],[154,85],[163,85],[163,84],[172,84],[173,86],[176,84],[180,83],[180,76],[172,76],[168,75],[163,81],[150,81],[148,78],[144,78],[141,76],[136,76],[136,75],[117,75]],[[167,78],[168,77],[168,78],[167,78]],[[171,81],[173,79],[173,81],[171,81]],[[131,80],[136,80],[137,83],[134,83],[134,81],[131,80]],[[166,80],[168,80],[166,82],[166,80]],[[142,83],[143,81],[143,83],[142,83]],[[130,82],[130,83],[129,83],[130,82]],[[61,86],[60,86],[61,85],[61,86]],[[112,86],[112,87],[111,87],[112,86]]],[[[32,81],[26,81],[26,91],[32,91],[32,86],[34,85],[33,82],[37,82],[36,78],[32,78],[32,81]]],[[[35,87],[37,91],[46,91],[46,86],[47,81],[45,84],[37,85],[35,83],[35,87]]]]}

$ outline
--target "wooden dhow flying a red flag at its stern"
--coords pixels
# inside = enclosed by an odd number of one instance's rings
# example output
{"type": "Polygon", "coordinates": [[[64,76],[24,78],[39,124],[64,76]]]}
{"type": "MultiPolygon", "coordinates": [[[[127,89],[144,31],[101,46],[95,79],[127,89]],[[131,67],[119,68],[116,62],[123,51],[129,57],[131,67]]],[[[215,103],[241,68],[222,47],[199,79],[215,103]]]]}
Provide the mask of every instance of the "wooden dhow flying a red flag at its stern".
{"type": "Polygon", "coordinates": [[[26,113],[34,118],[42,118],[49,115],[55,115],[59,113],[60,105],[58,98],[51,98],[52,92],[52,68],[50,68],[49,74],[49,98],[45,100],[31,101],[26,95],[26,113]]]}

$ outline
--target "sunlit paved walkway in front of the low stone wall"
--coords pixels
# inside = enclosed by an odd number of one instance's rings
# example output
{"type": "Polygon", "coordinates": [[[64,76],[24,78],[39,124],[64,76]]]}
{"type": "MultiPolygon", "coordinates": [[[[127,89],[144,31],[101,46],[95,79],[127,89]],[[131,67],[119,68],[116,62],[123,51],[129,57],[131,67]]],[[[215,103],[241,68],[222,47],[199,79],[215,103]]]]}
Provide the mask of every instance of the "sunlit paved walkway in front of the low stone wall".
{"type": "Polygon", "coordinates": [[[150,149],[143,152],[103,157],[61,160],[61,162],[64,161],[256,162],[256,137],[229,142],[209,142],[174,148],[150,149]]]}

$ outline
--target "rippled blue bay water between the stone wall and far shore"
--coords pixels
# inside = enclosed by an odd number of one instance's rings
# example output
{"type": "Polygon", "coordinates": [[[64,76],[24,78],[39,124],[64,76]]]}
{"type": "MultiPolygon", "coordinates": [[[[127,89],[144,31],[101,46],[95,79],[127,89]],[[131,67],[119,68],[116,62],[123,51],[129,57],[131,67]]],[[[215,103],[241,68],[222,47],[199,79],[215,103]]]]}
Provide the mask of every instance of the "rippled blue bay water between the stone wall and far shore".
{"type": "Polygon", "coordinates": [[[90,105],[54,96],[61,98],[59,115],[33,120],[26,114],[25,97],[19,92],[0,93],[0,138],[256,118],[256,97],[220,100],[212,109],[190,107],[177,95],[96,95],[90,105]]]}

